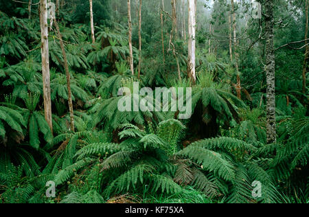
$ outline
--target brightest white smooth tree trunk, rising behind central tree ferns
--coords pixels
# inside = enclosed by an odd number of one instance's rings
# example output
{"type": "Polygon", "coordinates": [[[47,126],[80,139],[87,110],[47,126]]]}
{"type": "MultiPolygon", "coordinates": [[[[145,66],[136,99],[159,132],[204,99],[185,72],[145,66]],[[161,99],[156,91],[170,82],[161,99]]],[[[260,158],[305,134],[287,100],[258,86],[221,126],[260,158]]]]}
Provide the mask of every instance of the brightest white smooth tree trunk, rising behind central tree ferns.
{"type": "Polygon", "coordinates": [[[187,62],[187,73],[192,82],[196,83],[196,74],[195,74],[195,25],[196,25],[196,10],[195,10],[195,1],[188,0],[188,33],[189,33],[189,42],[188,42],[188,62],[187,62]]]}

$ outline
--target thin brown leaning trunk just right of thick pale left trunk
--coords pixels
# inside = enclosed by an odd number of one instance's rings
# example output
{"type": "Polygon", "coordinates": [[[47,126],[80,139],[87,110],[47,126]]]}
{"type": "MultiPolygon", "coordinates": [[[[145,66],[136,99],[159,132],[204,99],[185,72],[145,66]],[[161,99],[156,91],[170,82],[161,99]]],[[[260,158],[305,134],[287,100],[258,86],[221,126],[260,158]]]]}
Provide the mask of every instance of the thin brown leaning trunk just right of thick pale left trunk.
{"type": "Polygon", "coordinates": [[[69,72],[69,65],[67,63],[67,54],[65,54],[65,45],[63,44],[62,35],[60,33],[60,28],[59,28],[59,25],[56,19],[54,19],[54,23],[55,23],[56,31],[57,31],[58,38],[60,41],[60,47],[61,47],[62,56],[63,56],[63,65],[65,66],[65,73],[67,76],[67,92],[68,92],[68,98],[69,98],[68,104],[69,104],[69,113],[70,113],[70,126],[71,126],[71,130],[74,132],[75,126],[74,126],[74,113],[73,113],[73,102],[72,102],[72,91],[71,91],[71,76],[69,72]]]}

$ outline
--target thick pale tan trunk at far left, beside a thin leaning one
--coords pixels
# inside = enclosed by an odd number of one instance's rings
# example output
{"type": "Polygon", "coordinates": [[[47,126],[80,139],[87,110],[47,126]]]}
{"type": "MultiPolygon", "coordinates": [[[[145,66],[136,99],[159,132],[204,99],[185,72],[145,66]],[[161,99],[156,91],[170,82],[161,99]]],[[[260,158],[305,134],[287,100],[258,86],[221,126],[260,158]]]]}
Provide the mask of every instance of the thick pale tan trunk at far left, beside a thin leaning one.
{"type": "Polygon", "coordinates": [[[46,122],[53,132],[52,122],[52,99],[50,90],[49,75],[49,46],[48,46],[48,25],[47,25],[47,0],[40,1],[40,23],[41,23],[41,55],[42,55],[42,73],[43,73],[43,95],[44,95],[44,113],[46,122]]]}

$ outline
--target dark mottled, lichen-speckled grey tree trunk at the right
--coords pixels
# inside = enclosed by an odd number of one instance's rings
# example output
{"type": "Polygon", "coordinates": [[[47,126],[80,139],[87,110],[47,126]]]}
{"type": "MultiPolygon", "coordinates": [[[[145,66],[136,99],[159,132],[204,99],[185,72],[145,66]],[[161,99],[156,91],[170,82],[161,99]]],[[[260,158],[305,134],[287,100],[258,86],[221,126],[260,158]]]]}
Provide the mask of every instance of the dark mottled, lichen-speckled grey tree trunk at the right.
{"type": "Polygon", "coordinates": [[[267,111],[267,144],[276,142],[276,101],[275,101],[275,54],[273,42],[273,0],[265,1],[265,33],[266,33],[266,111],[267,111]]]}

